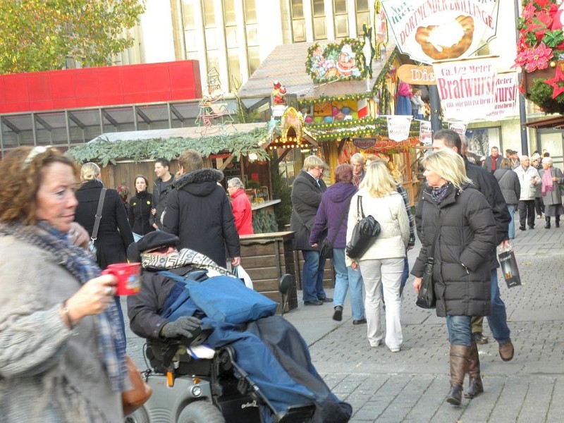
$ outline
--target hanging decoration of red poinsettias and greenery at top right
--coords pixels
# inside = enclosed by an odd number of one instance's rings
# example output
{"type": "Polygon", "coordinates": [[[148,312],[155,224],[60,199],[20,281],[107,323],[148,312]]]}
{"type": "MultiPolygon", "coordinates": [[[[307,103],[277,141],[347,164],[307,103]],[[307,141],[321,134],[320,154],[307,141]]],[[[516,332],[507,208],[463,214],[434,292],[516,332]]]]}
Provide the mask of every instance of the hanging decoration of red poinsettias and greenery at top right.
{"type": "Polygon", "coordinates": [[[523,71],[520,91],[545,113],[564,113],[564,4],[525,0],[517,29],[514,67],[523,71]]]}

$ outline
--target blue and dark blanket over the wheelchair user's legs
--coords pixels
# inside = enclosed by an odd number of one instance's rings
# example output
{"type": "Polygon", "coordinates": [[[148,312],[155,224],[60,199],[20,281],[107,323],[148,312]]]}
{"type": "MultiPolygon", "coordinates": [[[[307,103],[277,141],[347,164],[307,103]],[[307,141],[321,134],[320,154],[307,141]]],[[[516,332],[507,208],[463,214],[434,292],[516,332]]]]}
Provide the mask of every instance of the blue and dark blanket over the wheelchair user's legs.
{"type": "MultiPolygon", "coordinates": [[[[182,316],[202,316],[201,310],[190,298],[188,288],[181,282],[171,290],[163,309],[161,315],[171,321],[182,316]]],[[[285,319],[267,317],[247,328],[247,324],[229,324],[203,316],[202,327],[214,329],[206,341],[210,347],[233,347],[235,361],[257,384],[276,412],[283,412],[289,406],[316,403],[319,409],[315,412],[314,422],[347,422],[350,418],[352,408],[333,396],[311,364],[305,341],[285,319]],[[259,324],[263,321],[264,324],[259,324]],[[267,331],[278,331],[270,336],[268,346],[259,338],[268,338],[267,331]],[[275,345],[277,343],[283,345],[275,345]],[[298,361],[288,360],[293,355],[298,356],[298,361]],[[294,367],[290,371],[291,376],[277,357],[283,358],[287,367],[294,367]]],[[[264,412],[263,416],[267,417],[264,412]]]]}

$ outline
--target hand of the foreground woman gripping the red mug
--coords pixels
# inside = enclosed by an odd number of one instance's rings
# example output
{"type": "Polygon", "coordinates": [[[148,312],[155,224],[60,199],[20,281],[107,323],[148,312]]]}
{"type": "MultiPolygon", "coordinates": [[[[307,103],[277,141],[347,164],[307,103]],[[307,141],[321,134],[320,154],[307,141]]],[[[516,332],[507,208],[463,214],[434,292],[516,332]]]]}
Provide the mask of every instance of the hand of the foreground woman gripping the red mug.
{"type": "Polygon", "coordinates": [[[106,274],[87,281],[66,301],[68,317],[77,324],[82,317],[102,313],[116,295],[116,276],[106,274]]]}

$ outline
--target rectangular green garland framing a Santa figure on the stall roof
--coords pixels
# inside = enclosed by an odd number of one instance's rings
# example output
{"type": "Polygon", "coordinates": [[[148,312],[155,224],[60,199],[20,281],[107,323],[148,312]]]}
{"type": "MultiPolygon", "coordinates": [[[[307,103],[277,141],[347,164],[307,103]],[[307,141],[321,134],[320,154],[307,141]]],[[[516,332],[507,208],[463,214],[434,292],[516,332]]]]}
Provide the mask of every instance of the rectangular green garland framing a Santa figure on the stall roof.
{"type": "Polygon", "coordinates": [[[364,39],[344,38],[339,44],[315,43],[307,50],[305,70],[314,82],[360,80],[367,75],[364,39]]]}

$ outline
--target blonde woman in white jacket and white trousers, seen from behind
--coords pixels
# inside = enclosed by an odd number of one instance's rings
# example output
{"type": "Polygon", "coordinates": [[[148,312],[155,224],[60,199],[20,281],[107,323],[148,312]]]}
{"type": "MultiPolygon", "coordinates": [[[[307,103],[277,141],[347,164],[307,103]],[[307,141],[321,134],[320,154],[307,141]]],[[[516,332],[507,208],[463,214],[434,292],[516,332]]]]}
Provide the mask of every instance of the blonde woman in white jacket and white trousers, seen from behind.
{"type": "Polygon", "coordinates": [[[346,257],[348,266],[360,266],[366,299],[364,307],[368,324],[370,346],[381,345],[384,333],[380,324],[381,286],[384,286],[386,301],[386,345],[397,353],[403,343],[400,322],[400,281],[403,272],[403,257],[410,236],[410,224],[403,198],[396,190],[396,182],[382,161],[375,161],[359,186],[359,192],[350,201],[348,214],[347,243],[353,234],[357,220],[362,219],[357,209],[357,197],[362,197],[364,216],[372,215],[380,223],[381,232],[366,253],[357,261],[346,257]]]}

